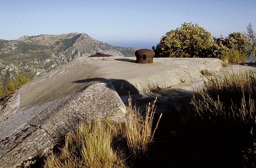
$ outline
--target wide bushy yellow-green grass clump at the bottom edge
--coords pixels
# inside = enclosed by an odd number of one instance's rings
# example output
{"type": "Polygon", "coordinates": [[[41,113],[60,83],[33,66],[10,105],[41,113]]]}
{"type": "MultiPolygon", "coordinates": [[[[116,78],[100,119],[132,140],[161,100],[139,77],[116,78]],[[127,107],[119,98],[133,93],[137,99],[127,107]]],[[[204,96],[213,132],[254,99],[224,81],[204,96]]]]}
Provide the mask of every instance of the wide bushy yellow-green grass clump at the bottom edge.
{"type": "Polygon", "coordinates": [[[109,168],[124,167],[112,149],[113,132],[102,119],[87,119],[68,134],[59,155],[48,156],[45,168],[109,168]]]}

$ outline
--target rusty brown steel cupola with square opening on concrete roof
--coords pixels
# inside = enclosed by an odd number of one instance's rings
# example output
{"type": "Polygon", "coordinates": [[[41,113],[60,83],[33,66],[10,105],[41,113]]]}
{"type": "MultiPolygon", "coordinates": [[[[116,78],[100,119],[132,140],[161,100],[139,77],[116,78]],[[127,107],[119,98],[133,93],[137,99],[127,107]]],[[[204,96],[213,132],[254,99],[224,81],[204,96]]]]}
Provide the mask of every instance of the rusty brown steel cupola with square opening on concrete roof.
{"type": "Polygon", "coordinates": [[[153,57],[155,53],[153,50],[140,49],[135,52],[136,62],[139,64],[151,64],[153,63],[153,57]]]}

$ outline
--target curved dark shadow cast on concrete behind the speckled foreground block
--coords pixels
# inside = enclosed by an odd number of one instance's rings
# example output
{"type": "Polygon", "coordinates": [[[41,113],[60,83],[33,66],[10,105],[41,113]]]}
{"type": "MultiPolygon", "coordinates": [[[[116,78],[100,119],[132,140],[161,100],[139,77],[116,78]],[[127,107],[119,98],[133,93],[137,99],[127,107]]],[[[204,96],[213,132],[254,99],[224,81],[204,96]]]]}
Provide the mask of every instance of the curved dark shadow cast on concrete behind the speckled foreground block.
{"type": "Polygon", "coordinates": [[[111,88],[111,87],[110,88],[115,89],[118,95],[129,95],[129,93],[130,94],[139,93],[136,87],[134,87],[131,83],[123,79],[106,79],[106,78],[96,77],[96,78],[77,80],[77,81],[74,81],[73,83],[87,83],[87,87],[88,87],[89,85],[92,85],[96,82],[101,82],[101,83],[112,82],[114,88],[111,88]]]}

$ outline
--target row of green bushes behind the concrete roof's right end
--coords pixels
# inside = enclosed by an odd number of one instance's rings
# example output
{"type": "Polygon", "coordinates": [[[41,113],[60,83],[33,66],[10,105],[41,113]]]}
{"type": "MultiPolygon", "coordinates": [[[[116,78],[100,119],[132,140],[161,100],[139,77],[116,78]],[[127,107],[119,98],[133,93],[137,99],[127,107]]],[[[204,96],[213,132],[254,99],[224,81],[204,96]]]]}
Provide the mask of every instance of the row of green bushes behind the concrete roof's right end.
{"type": "Polygon", "coordinates": [[[252,40],[240,32],[230,33],[225,39],[222,35],[216,38],[198,24],[186,22],[167,32],[152,49],[155,57],[211,57],[226,63],[244,61],[254,51],[252,40]]]}

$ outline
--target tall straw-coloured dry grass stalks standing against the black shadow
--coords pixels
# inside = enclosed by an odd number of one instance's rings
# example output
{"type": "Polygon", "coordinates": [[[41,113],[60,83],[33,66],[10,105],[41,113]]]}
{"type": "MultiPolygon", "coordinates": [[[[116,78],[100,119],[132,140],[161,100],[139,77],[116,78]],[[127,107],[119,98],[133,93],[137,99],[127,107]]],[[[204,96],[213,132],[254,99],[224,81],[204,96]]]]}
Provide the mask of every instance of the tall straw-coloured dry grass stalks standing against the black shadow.
{"type": "Polygon", "coordinates": [[[128,116],[129,120],[126,122],[127,142],[131,152],[137,154],[145,153],[149,144],[152,142],[158,123],[161,119],[160,115],[153,133],[153,118],[155,114],[155,102],[152,106],[150,103],[147,107],[145,117],[142,117],[135,108],[132,108],[131,97],[129,98],[128,116]]]}

